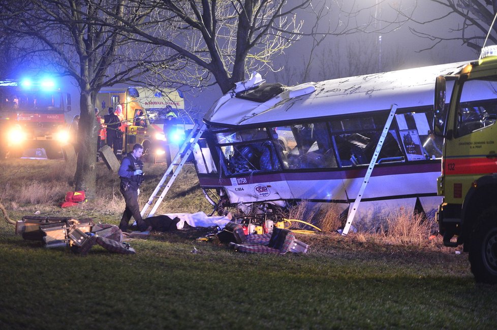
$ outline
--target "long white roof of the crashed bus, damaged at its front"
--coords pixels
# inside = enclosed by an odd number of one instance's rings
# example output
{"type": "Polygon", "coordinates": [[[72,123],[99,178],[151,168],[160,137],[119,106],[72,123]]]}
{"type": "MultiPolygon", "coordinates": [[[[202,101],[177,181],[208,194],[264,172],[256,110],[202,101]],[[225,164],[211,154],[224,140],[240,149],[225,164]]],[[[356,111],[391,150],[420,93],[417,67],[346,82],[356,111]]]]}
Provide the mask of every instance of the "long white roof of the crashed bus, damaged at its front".
{"type": "MultiPolygon", "coordinates": [[[[407,70],[310,82],[290,90],[313,90],[289,97],[288,90],[265,103],[248,101],[230,91],[216,102],[204,120],[220,126],[318,118],[375,110],[433,104],[434,83],[440,75],[458,73],[468,62],[432,65],[407,70]]],[[[239,90],[237,86],[237,90],[239,90]]]]}

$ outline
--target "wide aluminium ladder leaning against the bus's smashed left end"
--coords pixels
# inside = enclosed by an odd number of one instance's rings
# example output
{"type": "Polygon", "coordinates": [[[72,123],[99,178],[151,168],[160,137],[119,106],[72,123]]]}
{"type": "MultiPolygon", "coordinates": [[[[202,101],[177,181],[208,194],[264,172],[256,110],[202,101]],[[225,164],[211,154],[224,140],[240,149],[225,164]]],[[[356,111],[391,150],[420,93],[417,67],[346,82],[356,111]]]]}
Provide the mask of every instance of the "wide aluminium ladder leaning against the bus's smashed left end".
{"type": "Polygon", "coordinates": [[[179,148],[178,153],[176,154],[171,164],[167,168],[166,173],[164,173],[164,176],[157,185],[156,189],[150,195],[148,202],[141,210],[140,214],[143,218],[151,217],[154,214],[156,214],[159,205],[161,205],[162,200],[164,200],[164,196],[166,196],[166,193],[169,191],[169,188],[171,188],[171,185],[173,184],[174,180],[178,176],[179,172],[181,172],[181,168],[183,167],[184,163],[187,161],[188,157],[194,150],[195,146],[197,145],[197,142],[199,141],[200,137],[202,136],[202,133],[204,133],[204,130],[206,128],[207,127],[204,123],[195,124],[194,128],[192,129],[188,137],[184,140],[183,145],[181,146],[181,148],[179,148]],[[148,208],[152,206],[152,204],[153,204],[152,209],[147,213],[148,208]]]}

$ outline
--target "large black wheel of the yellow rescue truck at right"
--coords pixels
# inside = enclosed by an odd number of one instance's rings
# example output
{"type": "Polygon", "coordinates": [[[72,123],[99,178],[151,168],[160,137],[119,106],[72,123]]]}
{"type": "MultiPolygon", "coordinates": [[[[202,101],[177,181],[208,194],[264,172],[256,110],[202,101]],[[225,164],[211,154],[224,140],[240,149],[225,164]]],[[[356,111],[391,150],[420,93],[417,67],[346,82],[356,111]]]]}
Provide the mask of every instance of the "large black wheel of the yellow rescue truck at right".
{"type": "Polygon", "coordinates": [[[484,211],[478,218],[469,258],[477,283],[497,284],[497,208],[484,211]]]}

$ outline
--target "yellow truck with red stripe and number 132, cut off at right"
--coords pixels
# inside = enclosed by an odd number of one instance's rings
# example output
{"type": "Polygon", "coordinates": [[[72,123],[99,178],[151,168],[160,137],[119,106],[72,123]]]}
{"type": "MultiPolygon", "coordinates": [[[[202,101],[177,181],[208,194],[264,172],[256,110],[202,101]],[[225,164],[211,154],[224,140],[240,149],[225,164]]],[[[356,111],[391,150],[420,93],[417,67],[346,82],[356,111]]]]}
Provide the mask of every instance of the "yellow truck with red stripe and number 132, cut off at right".
{"type": "Polygon", "coordinates": [[[434,110],[434,133],[445,138],[440,233],[446,246],[463,244],[477,282],[497,284],[497,46],[437,78],[434,110]]]}

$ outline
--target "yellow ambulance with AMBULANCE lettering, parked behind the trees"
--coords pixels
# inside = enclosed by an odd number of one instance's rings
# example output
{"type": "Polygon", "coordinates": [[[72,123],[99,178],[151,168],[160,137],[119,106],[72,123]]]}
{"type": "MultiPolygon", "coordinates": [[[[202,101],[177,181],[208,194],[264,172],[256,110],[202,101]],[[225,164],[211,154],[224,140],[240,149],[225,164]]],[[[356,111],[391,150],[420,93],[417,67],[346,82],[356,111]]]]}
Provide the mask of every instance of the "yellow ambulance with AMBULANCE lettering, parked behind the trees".
{"type": "Polygon", "coordinates": [[[143,145],[142,159],[171,163],[170,145],[181,142],[184,130],[193,122],[184,112],[183,93],[178,90],[156,90],[147,87],[102,88],[97,96],[100,115],[109,107],[122,106],[127,125],[123,135],[123,153],[135,143],[143,145]]]}

